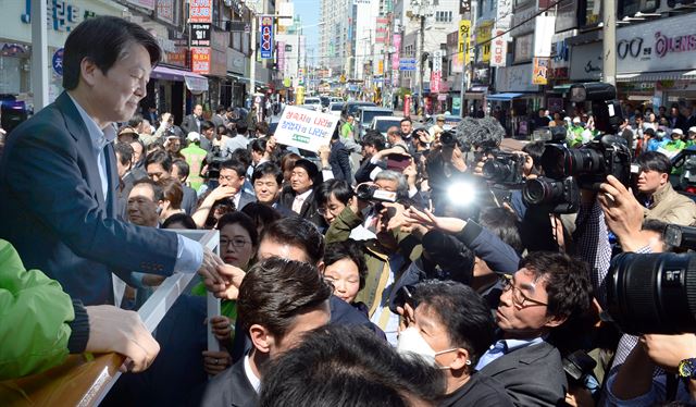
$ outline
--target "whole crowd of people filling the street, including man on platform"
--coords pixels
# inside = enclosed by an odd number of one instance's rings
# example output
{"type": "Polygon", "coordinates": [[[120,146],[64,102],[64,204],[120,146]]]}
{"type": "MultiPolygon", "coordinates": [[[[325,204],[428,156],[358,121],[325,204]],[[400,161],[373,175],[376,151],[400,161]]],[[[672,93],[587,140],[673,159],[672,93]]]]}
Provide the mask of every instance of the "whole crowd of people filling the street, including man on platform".
{"type": "MultiPolygon", "coordinates": [[[[407,118],[386,138],[356,138],[338,125],[309,153],[234,108],[196,106],[179,126],[170,113],[134,115],[158,52],[120,18],[80,24],[65,46],[67,91],[0,152],[0,378],[117,351],[129,372],[105,406],[696,399],[696,335],[632,336],[600,318],[612,255],[674,250],[667,225],[696,224],[671,161],[643,151],[641,136],[634,184],[609,175],[559,214],[484,177],[496,152],[461,127],[407,118]],[[95,36],[126,51],[105,65],[75,51],[95,36]],[[122,110],[90,103],[119,79],[133,81],[123,104],[109,99],[122,110]],[[220,256],[161,229],[217,230],[220,256]],[[175,271],[200,282],[150,335],[133,310],[175,271]],[[207,316],[207,293],[220,316],[207,316]]],[[[642,118],[645,136],[657,119],[642,118]]],[[[670,118],[671,136],[688,125],[670,118]]],[[[465,122],[504,132],[490,118],[465,122]]],[[[514,152],[522,180],[543,175],[545,148],[514,152]]]]}

